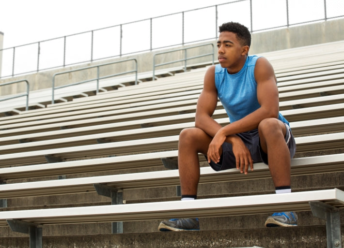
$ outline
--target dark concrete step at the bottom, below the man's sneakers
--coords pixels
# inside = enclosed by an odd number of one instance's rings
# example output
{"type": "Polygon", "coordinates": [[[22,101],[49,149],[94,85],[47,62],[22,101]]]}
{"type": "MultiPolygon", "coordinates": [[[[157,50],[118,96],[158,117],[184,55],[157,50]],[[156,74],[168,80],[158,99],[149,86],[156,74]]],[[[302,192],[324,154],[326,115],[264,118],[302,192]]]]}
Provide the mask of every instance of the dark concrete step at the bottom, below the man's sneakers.
{"type": "MultiPolygon", "coordinates": [[[[342,226],[343,230],[343,226],[342,226]]],[[[344,234],[342,232],[342,240],[344,234]]],[[[29,248],[28,237],[1,237],[6,248],[29,248]]],[[[224,229],[194,232],[122,233],[44,236],[43,247],[54,248],[325,248],[326,227],[224,229]]]]}

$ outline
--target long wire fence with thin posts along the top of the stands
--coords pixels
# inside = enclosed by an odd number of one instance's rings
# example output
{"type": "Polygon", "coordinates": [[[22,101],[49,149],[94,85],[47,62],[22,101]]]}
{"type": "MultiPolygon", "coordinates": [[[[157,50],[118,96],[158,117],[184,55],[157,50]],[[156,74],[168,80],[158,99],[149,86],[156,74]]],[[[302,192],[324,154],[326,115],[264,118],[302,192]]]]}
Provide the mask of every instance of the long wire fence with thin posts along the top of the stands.
{"type": "Polygon", "coordinates": [[[251,32],[257,32],[344,17],[343,0],[312,0],[312,5],[309,2],[310,0],[229,0],[228,3],[6,48],[0,50],[3,59],[1,75],[8,77],[34,73],[210,41],[218,38],[218,24],[228,21],[240,22],[251,32]],[[200,15],[206,18],[197,17],[200,15]],[[268,18],[264,18],[265,16],[268,18]],[[138,32],[140,44],[133,46],[130,35],[138,32]]]}

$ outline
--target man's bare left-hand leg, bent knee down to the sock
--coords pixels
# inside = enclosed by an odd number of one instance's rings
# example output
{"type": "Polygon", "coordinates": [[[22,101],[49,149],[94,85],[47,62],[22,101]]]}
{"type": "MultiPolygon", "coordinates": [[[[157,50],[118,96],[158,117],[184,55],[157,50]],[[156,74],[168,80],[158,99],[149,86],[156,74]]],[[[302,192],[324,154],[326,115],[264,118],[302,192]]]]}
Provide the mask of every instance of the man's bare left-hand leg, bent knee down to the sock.
{"type": "Polygon", "coordinates": [[[180,132],[178,143],[178,170],[183,195],[197,195],[200,179],[198,153],[206,154],[211,137],[199,128],[180,132]]]}

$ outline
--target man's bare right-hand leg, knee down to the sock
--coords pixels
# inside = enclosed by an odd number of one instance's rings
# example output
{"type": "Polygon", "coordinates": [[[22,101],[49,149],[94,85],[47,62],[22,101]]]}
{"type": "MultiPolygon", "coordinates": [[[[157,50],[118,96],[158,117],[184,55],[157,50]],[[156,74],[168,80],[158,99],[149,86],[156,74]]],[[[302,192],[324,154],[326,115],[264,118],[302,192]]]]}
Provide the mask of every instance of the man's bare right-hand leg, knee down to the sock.
{"type": "Polygon", "coordinates": [[[290,153],[284,140],[284,124],[278,119],[267,118],[261,121],[258,131],[275,187],[290,186],[290,153]]]}

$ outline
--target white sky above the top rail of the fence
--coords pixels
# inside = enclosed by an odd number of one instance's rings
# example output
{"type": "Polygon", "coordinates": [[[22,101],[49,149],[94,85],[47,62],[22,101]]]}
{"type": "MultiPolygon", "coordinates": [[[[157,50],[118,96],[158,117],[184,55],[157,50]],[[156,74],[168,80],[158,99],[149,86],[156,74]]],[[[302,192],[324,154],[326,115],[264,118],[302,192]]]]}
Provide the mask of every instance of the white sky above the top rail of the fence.
{"type": "Polygon", "coordinates": [[[0,0],[3,48],[233,0],[0,0]]]}

